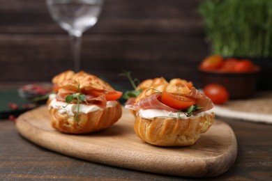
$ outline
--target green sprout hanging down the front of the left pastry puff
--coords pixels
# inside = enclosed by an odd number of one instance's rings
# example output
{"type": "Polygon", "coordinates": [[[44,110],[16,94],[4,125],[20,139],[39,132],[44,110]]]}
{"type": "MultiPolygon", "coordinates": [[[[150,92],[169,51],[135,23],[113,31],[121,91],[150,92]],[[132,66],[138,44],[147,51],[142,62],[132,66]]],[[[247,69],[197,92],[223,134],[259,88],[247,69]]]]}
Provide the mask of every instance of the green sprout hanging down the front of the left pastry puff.
{"type": "Polygon", "coordinates": [[[75,121],[77,121],[80,113],[80,102],[86,102],[86,95],[82,94],[80,91],[80,85],[78,85],[78,91],[79,93],[67,95],[65,98],[65,102],[67,102],[65,107],[67,107],[71,102],[77,103],[77,114],[75,115],[75,121]]]}

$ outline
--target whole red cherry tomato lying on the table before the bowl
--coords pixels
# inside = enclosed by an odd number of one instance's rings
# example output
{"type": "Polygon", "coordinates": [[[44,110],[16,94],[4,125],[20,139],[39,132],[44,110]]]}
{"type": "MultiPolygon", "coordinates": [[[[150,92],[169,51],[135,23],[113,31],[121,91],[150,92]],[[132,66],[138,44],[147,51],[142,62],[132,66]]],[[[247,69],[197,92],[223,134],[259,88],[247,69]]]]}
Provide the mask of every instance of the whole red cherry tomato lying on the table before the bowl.
{"type": "Polygon", "coordinates": [[[227,89],[220,84],[209,84],[204,87],[203,91],[214,104],[224,104],[227,102],[227,100],[229,100],[229,93],[227,89]]]}

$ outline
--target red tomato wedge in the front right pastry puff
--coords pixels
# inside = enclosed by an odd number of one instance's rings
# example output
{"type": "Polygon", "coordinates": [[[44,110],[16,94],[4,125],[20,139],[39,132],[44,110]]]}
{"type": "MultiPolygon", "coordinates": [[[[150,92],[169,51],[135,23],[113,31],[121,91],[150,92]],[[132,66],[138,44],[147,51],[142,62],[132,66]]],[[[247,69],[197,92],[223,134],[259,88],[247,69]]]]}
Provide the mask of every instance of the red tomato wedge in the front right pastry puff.
{"type": "Polygon", "coordinates": [[[172,93],[167,93],[166,91],[163,91],[161,101],[163,104],[166,104],[174,109],[186,109],[197,103],[197,100],[195,99],[174,95],[172,93]]]}

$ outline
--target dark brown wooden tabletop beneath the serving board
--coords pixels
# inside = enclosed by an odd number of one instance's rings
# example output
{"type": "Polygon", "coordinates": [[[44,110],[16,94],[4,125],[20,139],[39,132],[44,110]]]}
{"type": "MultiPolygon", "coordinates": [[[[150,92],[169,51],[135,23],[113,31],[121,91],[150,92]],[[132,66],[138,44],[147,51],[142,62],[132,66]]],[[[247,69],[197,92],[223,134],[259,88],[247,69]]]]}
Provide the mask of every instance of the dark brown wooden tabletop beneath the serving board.
{"type": "MultiPolygon", "coordinates": [[[[236,134],[238,155],[226,173],[211,180],[271,180],[272,125],[220,118],[236,134]]],[[[190,180],[86,162],[24,139],[10,120],[0,120],[0,180],[190,180]]]]}

